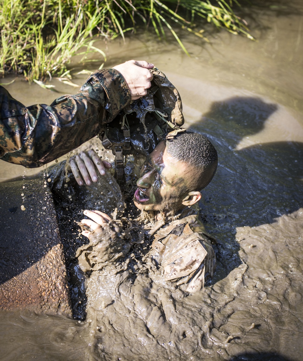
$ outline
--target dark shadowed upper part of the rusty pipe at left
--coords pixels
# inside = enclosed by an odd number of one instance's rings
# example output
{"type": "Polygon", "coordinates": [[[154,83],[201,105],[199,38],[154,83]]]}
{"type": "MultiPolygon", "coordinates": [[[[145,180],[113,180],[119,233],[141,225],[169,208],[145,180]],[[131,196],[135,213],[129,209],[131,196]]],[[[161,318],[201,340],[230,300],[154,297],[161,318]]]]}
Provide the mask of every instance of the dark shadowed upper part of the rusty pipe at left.
{"type": "Polygon", "coordinates": [[[40,180],[0,185],[0,283],[22,273],[60,242],[51,192],[43,185],[40,180]]]}

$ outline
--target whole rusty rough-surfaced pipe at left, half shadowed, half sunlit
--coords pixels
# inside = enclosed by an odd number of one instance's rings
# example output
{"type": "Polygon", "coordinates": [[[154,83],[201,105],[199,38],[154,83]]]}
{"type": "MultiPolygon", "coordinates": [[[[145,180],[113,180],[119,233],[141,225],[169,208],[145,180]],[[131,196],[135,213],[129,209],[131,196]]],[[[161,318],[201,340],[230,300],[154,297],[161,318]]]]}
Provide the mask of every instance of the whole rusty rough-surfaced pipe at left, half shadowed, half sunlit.
{"type": "Polygon", "coordinates": [[[56,212],[44,183],[0,184],[0,310],[71,317],[56,212]]]}

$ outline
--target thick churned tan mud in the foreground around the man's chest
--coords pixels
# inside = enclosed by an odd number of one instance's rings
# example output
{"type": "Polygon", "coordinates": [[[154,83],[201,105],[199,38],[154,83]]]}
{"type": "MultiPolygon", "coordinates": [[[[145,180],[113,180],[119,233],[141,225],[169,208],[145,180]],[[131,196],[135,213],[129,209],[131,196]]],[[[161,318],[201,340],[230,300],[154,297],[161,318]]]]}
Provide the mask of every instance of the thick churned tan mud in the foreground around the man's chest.
{"type": "MultiPolygon", "coordinates": [[[[293,349],[300,350],[303,263],[294,252],[303,251],[302,221],[299,209],[270,226],[238,227],[232,243],[241,264],[231,259],[227,276],[195,295],[165,282],[149,253],[142,257],[148,244],[142,244],[140,257],[113,226],[95,233],[77,253],[80,267],[89,271],[86,332],[97,358],[287,357],[290,338],[293,349]]],[[[230,245],[221,240],[218,246],[217,252],[225,253],[224,259],[218,257],[221,270],[230,245]]],[[[217,278],[222,278],[219,272],[217,278]]],[[[291,352],[291,360],[300,356],[291,352]]]]}

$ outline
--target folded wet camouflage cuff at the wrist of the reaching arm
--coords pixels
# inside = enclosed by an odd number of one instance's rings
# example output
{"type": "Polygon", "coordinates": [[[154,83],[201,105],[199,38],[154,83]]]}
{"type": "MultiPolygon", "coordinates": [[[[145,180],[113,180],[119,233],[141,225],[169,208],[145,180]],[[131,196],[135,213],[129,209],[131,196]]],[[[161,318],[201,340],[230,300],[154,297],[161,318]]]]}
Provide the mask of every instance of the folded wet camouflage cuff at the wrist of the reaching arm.
{"type": "Polygon", "coordinates": [[[115,116],[131,101],[131,93],[125,79],[116,69],[103,69],[92,74],[92,78],[102,84],[110,100],[112,114],[115,116]]]}

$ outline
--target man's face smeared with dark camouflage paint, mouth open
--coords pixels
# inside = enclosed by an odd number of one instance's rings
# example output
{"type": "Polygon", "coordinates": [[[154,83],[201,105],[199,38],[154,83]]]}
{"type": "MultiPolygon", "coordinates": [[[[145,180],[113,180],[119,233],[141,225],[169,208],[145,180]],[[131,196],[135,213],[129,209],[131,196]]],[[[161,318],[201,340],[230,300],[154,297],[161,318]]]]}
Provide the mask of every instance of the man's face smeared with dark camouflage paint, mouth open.
{"type": "Polygon", "coordinates": [[[193,176],[193,168],[168,154],[162,141],[141,168],[134,196],[136,207],[173,212],[183,208],[185,188],[193,176]]]}

